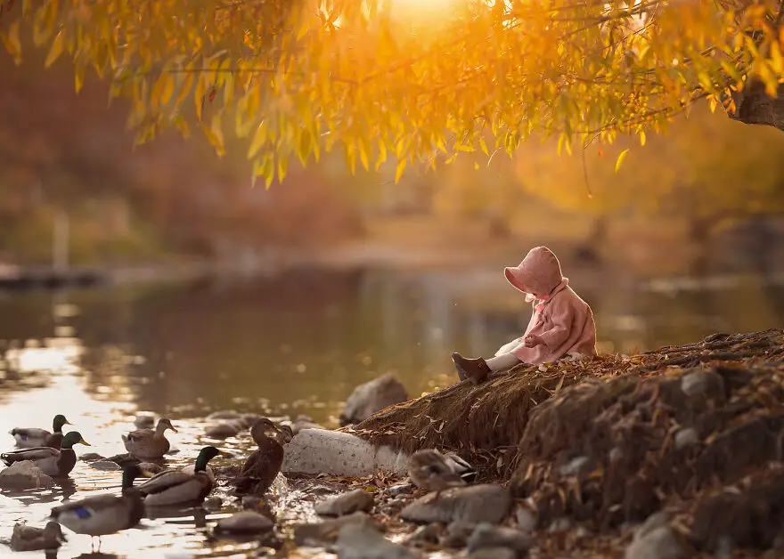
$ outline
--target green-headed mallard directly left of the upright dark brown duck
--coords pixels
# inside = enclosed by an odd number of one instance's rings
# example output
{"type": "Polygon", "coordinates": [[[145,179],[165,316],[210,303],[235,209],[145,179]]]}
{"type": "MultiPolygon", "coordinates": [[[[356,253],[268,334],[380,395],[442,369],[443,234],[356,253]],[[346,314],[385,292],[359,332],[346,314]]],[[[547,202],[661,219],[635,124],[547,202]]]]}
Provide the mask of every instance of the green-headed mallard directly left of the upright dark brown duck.
{"type": "Polygon", "coordinates": [[[207,463],[219,454],[221,451],[215,447],[204,447],[196,457],[193,474],[183,470],[169,470],[153,475],[137,488],[144,496],[144,504],[167,506],[200,503],[215,486],[206,472],[207,463]]]}

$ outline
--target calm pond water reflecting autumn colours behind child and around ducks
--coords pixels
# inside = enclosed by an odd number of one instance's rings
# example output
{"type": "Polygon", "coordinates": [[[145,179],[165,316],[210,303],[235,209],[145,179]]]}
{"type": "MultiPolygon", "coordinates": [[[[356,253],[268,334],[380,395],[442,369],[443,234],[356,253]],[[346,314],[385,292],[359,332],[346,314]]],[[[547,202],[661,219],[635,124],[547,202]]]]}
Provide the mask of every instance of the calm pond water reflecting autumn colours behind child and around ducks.
{"type": "MultiPolygon", "coordinates": [[[[8,294],[0,298],[0,340],[11,348],[13,369],[37,374],[12,390],[0,383],[0,433],[50,428],[63,413],[93,445],[78,454],[110,456],[124,452],[120,435],[134,428],[135,413],[151,411],[174,420],[179,433],[167,437],[180,452],[168,462],[182,466],[216,443],[202,433],[203,417],[217,409],[302,413],[334,426],[359,383],[392,371],[419,395],[454,382],[452,351],[492,353],[519,336],[528,312],[498,275],[298,271],[242,283],[8,294]]],[[[784,291],[755,277],[680,291],[674,282],[608,288],[608,281],[579,276],[572,285],[592,304],[606,351],[778,327],[784,319],[784,291]]],[[[12,437],[0,434],[0,448],[11,446],[12,437]]],[[[216,446],[236,458],[249,452],[243,434],[216,446]]],[[[107,490],[119,490],[119,473],[80,461],[52,490],[0,493],[0,540],[10,538],[15,522],[43,525],[64,498],[107,490]]],[[[277,491],[285,495],[285,483],[277,491]]],[[[211,521],[230,511],[168,511],[103,538],[102,552],[124,559],[245,556],[257,544],[208,534],[211,521]]],[[[308,510],[292,514],[301,520],[308,510]]],[[[58,557],[89,554],[89,538],[68,537],[58,557]]],[[[0,541],[0,556],[9,553],[0,541]]]]}

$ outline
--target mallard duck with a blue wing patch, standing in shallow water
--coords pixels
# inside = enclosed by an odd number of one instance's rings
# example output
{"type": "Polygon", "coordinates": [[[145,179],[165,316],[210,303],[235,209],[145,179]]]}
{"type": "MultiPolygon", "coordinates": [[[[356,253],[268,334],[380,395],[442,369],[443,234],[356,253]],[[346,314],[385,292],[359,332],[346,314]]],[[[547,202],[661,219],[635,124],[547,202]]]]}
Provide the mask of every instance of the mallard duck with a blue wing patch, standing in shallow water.
{"type": "Polygon", "coordinates": [[[55,506],[51,516],[70,531],[97,536],[100,548],[101,536],[133,528],[142,519],[142,495],[134,488],[134,480],[141,474],[139,466],[130,464],[123,468],[121,495],[97,495],[55,506]]]}

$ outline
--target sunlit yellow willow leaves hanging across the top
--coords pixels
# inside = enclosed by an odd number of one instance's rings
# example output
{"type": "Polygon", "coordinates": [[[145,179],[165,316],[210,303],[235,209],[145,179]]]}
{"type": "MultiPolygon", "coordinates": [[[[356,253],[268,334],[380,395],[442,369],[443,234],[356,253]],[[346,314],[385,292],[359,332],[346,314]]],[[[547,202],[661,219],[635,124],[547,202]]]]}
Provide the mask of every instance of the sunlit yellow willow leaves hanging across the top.
{"type": "MultiPolygon", "coordinates": [[[[0,0],[0,39],[28,37],[127,97],[137,142],[199,127],[249,142],[256,175],[340,147],[352,171],[514,152],[531,134],[570,149],[660,132],[695,100],[784,77],[780,4],[674,0],[0,0]],[[491,137],[486,142],[486,135],[491,137]]],[[[27,48],[27,47],[25,47],[27,48]]]]}

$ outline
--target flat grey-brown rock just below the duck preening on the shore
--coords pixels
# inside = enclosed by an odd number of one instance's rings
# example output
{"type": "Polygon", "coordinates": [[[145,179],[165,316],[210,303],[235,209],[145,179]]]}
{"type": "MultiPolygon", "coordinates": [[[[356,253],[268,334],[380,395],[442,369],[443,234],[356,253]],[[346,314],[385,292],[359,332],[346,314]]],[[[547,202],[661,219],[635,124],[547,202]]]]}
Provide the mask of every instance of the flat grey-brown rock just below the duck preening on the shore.
{"type": "Polygon", "coordinates": [[[485,483],[458,487],[416,499],[400,511],[400,516],[415,523],[500,523],[509,514],[510,492],[500,485],[485,483]]]}

